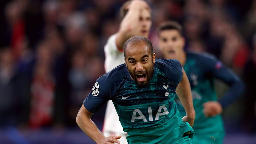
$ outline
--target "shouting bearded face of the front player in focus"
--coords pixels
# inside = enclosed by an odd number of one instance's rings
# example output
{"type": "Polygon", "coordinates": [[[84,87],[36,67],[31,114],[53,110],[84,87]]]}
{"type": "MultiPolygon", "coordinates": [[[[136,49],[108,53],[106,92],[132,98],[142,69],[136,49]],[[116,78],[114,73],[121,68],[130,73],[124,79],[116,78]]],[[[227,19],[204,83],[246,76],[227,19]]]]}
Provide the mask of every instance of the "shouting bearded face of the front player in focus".
{"type": "Polygon", "coordinates": [[[125,64],[131,78],[138,86],[145,86],[154,72],[155,54],[151,55],[144,42],[128,45],[125,64]]]}

